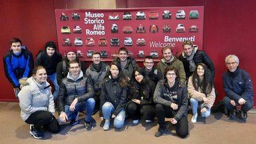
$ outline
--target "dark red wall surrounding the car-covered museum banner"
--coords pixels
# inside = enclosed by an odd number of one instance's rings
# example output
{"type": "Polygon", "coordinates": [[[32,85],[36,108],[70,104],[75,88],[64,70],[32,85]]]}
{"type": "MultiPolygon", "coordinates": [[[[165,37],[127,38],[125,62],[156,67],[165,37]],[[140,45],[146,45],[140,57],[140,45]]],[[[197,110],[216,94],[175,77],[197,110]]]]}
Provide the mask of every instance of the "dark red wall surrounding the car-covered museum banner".
{"type": "MultiPolygon", "coordinates": [[[[203,50],[207,52],[215,64],[215,83],[220,100],[225,95],[222,88],[221,75],[226,67],[224,58],[227,54],[239,56],[239,67],[249,74],[255,85],[255,68],[253,54],[256,53],[254,44],[256,37],[256,13],[254,0],[116,0],[117,8],[132,7],[186,7],[204,6],[204,32],[203,50]]],[[[78,3],[84,1],[66,0],[0,0],[0,54],[8,52],[9,40],[13,37],[21,38],[34,56],[45,42],[53,40],[57,42],[55,23],[55,9],[77,9],[78,3]]],[[[140,64],[141,65],[141,64],[140,64]]],[[[0,101],[17,101],[13,94],[13,88],[9,84],[3,71],[3,60],[0,62],[0,101]]],[[[254,90],[254,92],[256,92],[254,90]]],[[[256,93],[255,93],[256,94],[256,93]]],[[[255,105],[256,106],[256,100],[255,105]]]]}

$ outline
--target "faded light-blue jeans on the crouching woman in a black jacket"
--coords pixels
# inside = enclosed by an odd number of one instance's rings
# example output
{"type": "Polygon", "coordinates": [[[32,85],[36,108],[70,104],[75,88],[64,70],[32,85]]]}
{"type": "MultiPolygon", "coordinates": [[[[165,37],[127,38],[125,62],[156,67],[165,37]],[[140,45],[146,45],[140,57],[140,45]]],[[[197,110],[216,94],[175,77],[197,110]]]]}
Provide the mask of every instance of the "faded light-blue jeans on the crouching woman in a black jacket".
{"type": "MultiPolygon", "coordinates": [[[[102,106],[102,113],[103,113],[104,119],[106,120],[110,119],[110,116],[112,115],[113,112],[114,112],[114,106],[110,102],[106,102],[102,106]]],[[[122,111],[120,111],[120,113],[118,113],[118,115],[114,117],[114,127],[116,128],[123,127],[124,119],[125,119],[125,111],[124,109],[122,109],[122,111]]]]}

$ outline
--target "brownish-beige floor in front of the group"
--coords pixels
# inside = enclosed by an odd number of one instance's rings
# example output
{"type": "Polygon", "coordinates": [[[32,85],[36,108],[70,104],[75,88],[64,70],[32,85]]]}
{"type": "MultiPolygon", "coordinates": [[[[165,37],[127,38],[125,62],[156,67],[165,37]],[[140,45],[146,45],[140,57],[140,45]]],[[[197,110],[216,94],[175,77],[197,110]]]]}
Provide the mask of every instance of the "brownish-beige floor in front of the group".
{"type": "MultiPolygon", "coordinates": [[[[18,103],[0,103],[1,132],[0,143],[58,143],[58,144],[122,144],[122,143],[240,143],[255,144],[256,143],[256,114],[249,113],[246,123],[241,121],[231,121],[222,113],[215,113],[203,121],[199,117],[199,122],[189,122],[190,135],[186,139],[180,139],[175,135],[175,130],[170,125],[168,133],[162,137],[154,137],[154,133],[158,129],[157,121],[153,123],[144,123],[140,121],[138,125],[132,125],[132,120],[128,119],[123,129],[115,130],[111,127],[110,131],[102,130],[102,121],[98,117],[98,113],[94,115],[96,124],[92,131],[86,131],[83,126],[84,116],[80,113],[80,121],[78,125],[70,127],[70,125],[62,125],[62,130],[58,134],[46,132],[44,139],[34,139],[29,134],[29,125],[27,125],[20,117],[20,109],[18,103]]],[[[190,121],[192,115],[188,115],[190,121]]],[[[166,119],[168,120],[168,119],[166,119]]]]}

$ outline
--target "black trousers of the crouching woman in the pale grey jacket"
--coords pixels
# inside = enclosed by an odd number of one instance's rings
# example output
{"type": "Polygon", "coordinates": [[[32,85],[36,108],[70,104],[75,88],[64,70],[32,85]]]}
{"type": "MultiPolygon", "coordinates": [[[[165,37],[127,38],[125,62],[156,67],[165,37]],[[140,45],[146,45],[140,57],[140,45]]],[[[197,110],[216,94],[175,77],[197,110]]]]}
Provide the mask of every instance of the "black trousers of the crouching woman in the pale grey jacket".
{"type": "Polygon", "coordinates": [[[49,111],[35,111],[35,113],[29,115],[25,122],[33,124],[35,129],[43,127],[52,133],[59,133],[61,129],[57,119],[49,111]]]}

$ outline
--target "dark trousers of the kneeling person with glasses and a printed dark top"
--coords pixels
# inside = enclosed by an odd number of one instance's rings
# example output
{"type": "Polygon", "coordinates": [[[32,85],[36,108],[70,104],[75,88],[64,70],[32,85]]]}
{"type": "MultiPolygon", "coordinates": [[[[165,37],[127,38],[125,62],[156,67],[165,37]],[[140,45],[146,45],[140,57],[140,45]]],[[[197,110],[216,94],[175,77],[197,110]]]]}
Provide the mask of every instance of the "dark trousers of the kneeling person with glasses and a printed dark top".
{"type": "MultiPolygon", "coordinates": [[[[166,131],[166,122],[165,117],[171,118],[176,115],[177,111],[174,111],[171,107],[163,106],[162,104],[156,104],[156,117],[158,118],[160,133],[166,131]]],[[[177,119],[176,119],[177,120],[177,119]]],[[[188,118],[184,115],[178,122],[175,124],[176,133],[180,137],[187,137],[188,135],[188,118]]]]}

